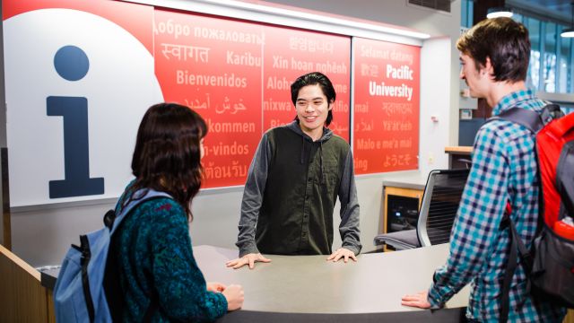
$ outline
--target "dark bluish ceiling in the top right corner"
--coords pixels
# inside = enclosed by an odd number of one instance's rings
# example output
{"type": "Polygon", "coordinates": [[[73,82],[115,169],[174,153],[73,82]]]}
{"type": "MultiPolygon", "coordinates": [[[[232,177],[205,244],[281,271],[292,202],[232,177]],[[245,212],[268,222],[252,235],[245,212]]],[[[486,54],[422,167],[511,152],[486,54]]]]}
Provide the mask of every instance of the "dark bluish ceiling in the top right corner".
{"type": "Polygon", "coordinates": [[[505,3],[512,7],[524,9],[530,13],[550,16],[554,20],[570,24],[572,1],[573,0],[506,0],[505,3]]]}

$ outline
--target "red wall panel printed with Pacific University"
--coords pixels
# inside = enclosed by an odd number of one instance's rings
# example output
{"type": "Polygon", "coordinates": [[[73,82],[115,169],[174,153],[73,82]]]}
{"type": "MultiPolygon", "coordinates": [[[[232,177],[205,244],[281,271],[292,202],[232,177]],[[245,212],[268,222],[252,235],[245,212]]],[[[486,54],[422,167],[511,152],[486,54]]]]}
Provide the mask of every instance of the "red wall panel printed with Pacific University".
{"type": "Polygon", "coordinates": [[[416,170],[421,49],[353,39],[355,173],[416,170]]]}

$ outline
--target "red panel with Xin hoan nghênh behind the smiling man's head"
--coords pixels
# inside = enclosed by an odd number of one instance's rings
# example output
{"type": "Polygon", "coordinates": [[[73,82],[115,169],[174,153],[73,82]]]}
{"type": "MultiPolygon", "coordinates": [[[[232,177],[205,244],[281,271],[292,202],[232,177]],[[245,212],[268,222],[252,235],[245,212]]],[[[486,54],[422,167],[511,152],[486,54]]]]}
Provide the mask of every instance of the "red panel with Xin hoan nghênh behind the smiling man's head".
{"type": "Polygon", "coordinates": [[[291,83],[302,74],[321,72],[331,80],[336,92],[329,128],[348,142],[351,39],[270,26],[265,26],[264,34],[264,130],[290,123],[295,118],[291,83]]]}

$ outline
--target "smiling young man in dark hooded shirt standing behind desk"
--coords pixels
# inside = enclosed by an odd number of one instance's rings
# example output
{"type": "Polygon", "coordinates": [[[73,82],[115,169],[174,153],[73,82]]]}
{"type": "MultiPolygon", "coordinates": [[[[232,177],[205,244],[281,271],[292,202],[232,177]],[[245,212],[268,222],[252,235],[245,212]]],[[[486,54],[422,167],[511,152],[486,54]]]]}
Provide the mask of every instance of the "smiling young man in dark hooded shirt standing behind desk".
{"type": "Polygon", "coordinates": [[[314,72],[291,84],[297,117],[265,133],[249,167],[239,220],[239,268],[269,262],[261,255],[330,255],[356,260],[361,251],[359,204],[351,148],[325,126],[333,119],[335,88],[314,72]],[[343,247],[332,251],[333,211],[341,202],[343,247]]]}

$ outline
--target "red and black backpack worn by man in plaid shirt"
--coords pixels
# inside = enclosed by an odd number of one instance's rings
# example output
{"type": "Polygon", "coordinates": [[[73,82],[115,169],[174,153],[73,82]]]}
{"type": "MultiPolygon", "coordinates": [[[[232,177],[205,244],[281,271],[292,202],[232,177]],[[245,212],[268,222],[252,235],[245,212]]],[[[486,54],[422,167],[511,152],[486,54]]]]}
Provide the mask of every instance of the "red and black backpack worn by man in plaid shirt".
{"type": "MultiPolygon", "coordinates": [[[[507,205],[500,227],[509,228],[511,247],[500,293],[500,322],[509,314],[509,288],[517,256],[525,268],[534,297],[574,308],[574,236],[564,220],[574,217],[574,113],[564,116],[556,104],[540,113],[512,108],[492,119],[527,127],[535,134],[536,159],[541,185],[540,216],[531,249],[526,249],[510,220],[507,205]],[[570,233],[570,234],[569,234],[570,233]]],[[[567,223],[570,220],[567,220],[567,223]]]]}

